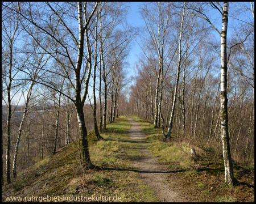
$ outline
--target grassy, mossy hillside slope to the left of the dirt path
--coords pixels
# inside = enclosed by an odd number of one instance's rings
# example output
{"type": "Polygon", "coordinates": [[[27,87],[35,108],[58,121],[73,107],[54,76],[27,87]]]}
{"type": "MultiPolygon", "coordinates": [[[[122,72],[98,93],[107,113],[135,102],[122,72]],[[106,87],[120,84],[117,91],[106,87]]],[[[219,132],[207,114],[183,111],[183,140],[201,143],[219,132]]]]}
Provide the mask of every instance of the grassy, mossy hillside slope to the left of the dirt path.
{"type": "Polygon", "coordinates": [[[12,198],[7,199],[23,201],[24,197],[28,197],[26,201],[39,201],[47,196],[52,199],[59,196],[59,201],[64,197],[79,201],[79,196],[93,199],[93,195],[94,199],[110,201],[114,197],[122,202],[158,201],[154,192],[141,181],[139,173],[130,171],[133,169],[131,161],[123,157],[139,154],[138,150],[127,148],[129,128],[129,122],[121,117],[107,126],[108,130],[102,134],[106,141],[96,141],[93,131],[89,133],[90,157],[97,169],[81,168],[78,141],[72,142],[55,155],[20,172],[16,180],[2,188],[2,202],[9,196],[12,198]]]}

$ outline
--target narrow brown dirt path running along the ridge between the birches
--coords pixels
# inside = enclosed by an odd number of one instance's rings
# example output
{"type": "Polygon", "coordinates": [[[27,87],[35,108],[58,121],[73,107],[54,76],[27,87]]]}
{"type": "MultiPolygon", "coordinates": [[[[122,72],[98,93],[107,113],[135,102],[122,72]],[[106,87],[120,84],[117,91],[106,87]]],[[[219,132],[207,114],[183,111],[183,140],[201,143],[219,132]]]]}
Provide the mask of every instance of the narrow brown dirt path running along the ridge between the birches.
{"type": "Polygon", "coordinates": [[[179,193],[172,191],[171,181],[168,180],[168,168],[158,162],[146,148],[146,135],[142,131],[142,127],[138,122],[128,120],[131,123],[129,137],[140,144],[139,149],[143,155],[133,161],[133,166],[139,169],[142,180],[154,189],[156,196],[160,202],[186,202],[185,198],[181,198],[179,193]]]}

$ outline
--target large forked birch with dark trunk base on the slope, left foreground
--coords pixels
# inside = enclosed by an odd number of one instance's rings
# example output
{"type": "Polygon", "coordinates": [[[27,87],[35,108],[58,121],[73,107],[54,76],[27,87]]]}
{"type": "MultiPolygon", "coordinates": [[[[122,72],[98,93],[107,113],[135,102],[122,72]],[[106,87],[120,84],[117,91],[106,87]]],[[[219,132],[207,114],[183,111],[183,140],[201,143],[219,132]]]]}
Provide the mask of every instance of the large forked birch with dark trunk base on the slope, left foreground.
{"type": "MultiPolygon", "coordinates": [[[[65,3],[61,3],[61,6],[65,6],[65,3]]],[[[91,3],[82,3],[77,2],[77,15],[78,15],[78,25],[79,25],[79,39],[76,38],[75,34],[72,32],[73,29],[69,28],[68,22],[65,22],[65,18],[63,15],[67,15],[66,13],[61,14],[63,10],[55,10],[55,7],[47,3],[48,8],[52,11],[52,13],[55,15],[55,18],[52,18],[52,16],[47,15],[46,13],[42,14],[41,16],[33,16],[33,14],[30,13],[31,8],[34,8],[34,4],[36,3],[28,3],[28,9],[22,10],[22,12],[19,12],[20,15],[24,18],[24,23],[31,23],[33,27],[26,27],[23,26],[24,29],[26,29],[26,32],[29,33],[32,37],[34,37],[35,41],[39,44],[39,46],[46,51],[53,59],[55,59],[56,62],[58,62],[61,65],[61,69],[63,70],[62,73],[65,73],[65,78],[69,80],[69,83],[72,84],[73,90],[75,92],[75,97],[70,97],[66,95],[64,92],[61,92],[51,81],[49,81],[46,77],[40,78],[40,80],[37,80],[36,83],[42,84],[44,86],[47,86],[49,88],[52,88],[53,90],[60,92],[63,96],[68,97],[71,99],[71,101],[75,104],[76,112],[77,112],[77,121],[79,122],[79,131],[80,131],[80,138],[81,138],[81,149],[82,149],[82,166],[84,168],[93,168],[93,164],[90,161],[89,156],[89,150],[88,150],[88,141],[87,141],[87,130],[85,126],[85,118],[84,118],[84,103],[86,96],[88,95],[88,84],[90,79],[90,73],[92,70],[91,66],[91,60],[92,60],[92,53],[90,52],[89,48],[89,27],[92,26],[92,18],[94,16],[94,13],[96,11],[96,8],[98,6],[98,2],[95,3],[93,6],[91,3]],[[84,17],[83,17],[84,16],[84,17]],[[44,24],[45,21],[40,18],[49,18],[49,22],[51,24],[44,24]],[[55,21],[54,21],[55,20],[55,21]],[[58,23],[59,22],[59,23],[58,23]],[[60,33],[58,26],[61,28],[64,28],[63,31],[60,33]],[[52,40],[53,44],[51,46],[51,49],[46,49],[46,47],[41,44],[39,41],[35,38],[34,29],[40,30],[40,35],[45,36],[46,38],[49,38],[52,40]],[[69,38],[68,38],[69,37],[69,38]],[[65,40],[68,40],[65,42],[65,40]],[[68,46],[67,42],[71,43],[73,42],[73,46],[68,46]],[[82,66],[82,62],[85,56],[84,52],[84,44],[86,45],[86,61],[85,65],[82,66]],[[76,62],[75,59],[71,56],[71,53],[74,52],[74,49],[76,46],[76,53],[77,53],[77,59],[76,62]],[[68,67],[65,66],[63,62],[59,60],[57,56],[63,56],[65,57],[69,63],[72,66],[73,75],[75,77],[75,83],[73,82],[71,76],[68,72],[68,67]],[[87,75],[86,75],[87,74],[87,75]]],[[[57,3],[55,4],[57,5],[57,3]]],[[[67,6],[67,5],[66,5],[67,6]]],[[[69,6],[69,12],[72,12],[75,5],[68,5],[69,6]]],[[[41,10],[41,12],[47,12],[41,10]]],[[[39,11],[38,11],[39,12],[39,11]]],[[[49,12],[49,11],[48,11],[49,12]]],[[[92,28],[91,28],[92,29],[92,28]]],[[[60,72],[57,70],[48,70],[49,73],[52,74],[59,74],[60,72]]]]}

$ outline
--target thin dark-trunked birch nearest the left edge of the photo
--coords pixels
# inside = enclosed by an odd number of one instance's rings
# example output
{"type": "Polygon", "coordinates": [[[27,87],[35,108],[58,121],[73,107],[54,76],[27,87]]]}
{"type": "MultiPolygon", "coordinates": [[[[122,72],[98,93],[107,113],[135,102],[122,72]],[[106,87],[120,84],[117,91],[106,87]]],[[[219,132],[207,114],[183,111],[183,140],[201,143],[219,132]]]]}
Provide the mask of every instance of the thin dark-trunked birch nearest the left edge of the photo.
{"type": "Polygon", "coordinates": [[[7,92],[7,99],[4,98],[4,101],[7,105],[7,122],[6,122],[6,178],[7,184],[10,184],[10,148],[11,148],[11,115],[13,114],[12,110],[12,100],[13,97],[18,93],[17,89],[14,90],[14,87],[18,87],[18,84],[15,84],[16,76],[19,74],[19,69],[15,69],[15,46],[17,37],[20,35],[20,15],[13,12],[14,9],[20,10],[20,7],[16,3],[9,4],[9,8],[6,5],[2,4],[2,37],[5,40],[3,43],[4,51],[6,52],[6,59],[4,59],[4,64],[6,67],[3,67],[3,81],[4,81],[4,92],[7,92]]]}

